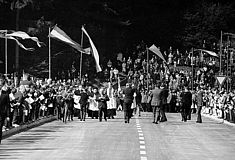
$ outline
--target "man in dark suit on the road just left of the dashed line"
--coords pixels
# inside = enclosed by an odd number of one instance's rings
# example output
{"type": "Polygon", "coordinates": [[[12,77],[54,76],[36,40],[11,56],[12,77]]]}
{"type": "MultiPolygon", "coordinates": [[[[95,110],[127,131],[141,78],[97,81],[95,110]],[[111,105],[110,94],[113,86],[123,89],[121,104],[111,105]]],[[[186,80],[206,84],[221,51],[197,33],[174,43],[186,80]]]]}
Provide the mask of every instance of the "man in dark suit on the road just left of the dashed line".
{"type": "Polygon", "coordinates": [[[133,103],[134,93],[135,90],[131,88],[131,85],[129,83],[127,83],[126,88],[123,90],[123,96],[124,96],[123,110],[124,110],[125,123],[130,122],[131,104],[133,103]]]}

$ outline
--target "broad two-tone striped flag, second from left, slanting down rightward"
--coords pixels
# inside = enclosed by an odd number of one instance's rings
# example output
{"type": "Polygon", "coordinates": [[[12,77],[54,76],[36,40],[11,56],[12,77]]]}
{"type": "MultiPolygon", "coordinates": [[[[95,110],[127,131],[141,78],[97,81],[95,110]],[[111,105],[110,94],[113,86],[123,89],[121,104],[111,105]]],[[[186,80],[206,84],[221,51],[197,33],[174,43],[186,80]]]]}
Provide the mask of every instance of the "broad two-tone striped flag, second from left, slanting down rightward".
{"type": "Polygon", "coordinates": [[[82,49],[81,45],[77,42],[73,41],[63,30],[61,30],[57,25],[54,26],[52,31],[49,35],[51,38],[55,38],[57,40],[60,40],[71,47],[75,48],[79,52],[84,53],[85,51],[82,49]]]}

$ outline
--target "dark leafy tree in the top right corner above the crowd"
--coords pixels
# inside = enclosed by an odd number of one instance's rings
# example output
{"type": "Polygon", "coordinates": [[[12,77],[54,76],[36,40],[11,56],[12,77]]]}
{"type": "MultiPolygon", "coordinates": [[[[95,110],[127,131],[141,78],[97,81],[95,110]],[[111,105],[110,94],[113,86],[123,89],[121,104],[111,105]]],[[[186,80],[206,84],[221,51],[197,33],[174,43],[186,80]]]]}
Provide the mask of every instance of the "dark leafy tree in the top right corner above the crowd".
{"type": "Polygon", "coordinates": [[[232,29],[231,21],[235,18],[235,10],[231,4],[220,4],[197,1],[194,8],[188,9],[182,20],[182,31],[177,39],[187,49],[201,48],[203,42],[212,46],[217,43],[220,31],[232,29]]]}

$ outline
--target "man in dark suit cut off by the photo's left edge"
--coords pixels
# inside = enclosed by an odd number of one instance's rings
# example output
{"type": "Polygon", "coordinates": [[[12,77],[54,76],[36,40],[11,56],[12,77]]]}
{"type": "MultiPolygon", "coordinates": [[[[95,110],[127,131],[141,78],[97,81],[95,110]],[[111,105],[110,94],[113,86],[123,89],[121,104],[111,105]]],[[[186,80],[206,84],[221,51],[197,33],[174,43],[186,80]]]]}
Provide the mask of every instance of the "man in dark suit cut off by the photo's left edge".
{"type": "Polygon", "coordinates": [[[2,140],[2,127],[4,125],[5,119],[9,121],[10,114],[10,99],[8,93],[2,90],[5,85],[5,77],[0,74],[0,144],[2,140]]]}

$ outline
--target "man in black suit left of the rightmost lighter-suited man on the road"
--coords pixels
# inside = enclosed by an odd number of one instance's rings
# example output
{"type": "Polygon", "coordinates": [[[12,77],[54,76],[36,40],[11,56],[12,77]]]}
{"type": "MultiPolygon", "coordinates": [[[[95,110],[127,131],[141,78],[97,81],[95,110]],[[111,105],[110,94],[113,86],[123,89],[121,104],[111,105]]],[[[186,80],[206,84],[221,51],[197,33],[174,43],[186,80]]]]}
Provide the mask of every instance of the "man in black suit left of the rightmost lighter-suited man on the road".
{"type": "Polygon", "coordinates": [[[192,105],[192,93],[189,92],[188,87],[185,86],[184,92],[182,92],[180,96],[182,98],[182,121],[186,122],[192,105]]]}

